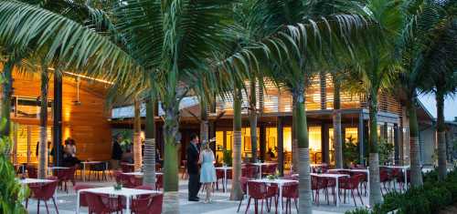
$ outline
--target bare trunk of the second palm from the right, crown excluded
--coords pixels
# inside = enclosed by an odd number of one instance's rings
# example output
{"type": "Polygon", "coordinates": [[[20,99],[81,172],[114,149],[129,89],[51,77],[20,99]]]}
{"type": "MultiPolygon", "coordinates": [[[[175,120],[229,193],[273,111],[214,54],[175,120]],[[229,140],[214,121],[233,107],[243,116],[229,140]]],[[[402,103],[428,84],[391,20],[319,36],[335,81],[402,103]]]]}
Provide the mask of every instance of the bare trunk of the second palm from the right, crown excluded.
{"type": "Polygon", "coordinates": [[[409,99],[407,104],[409,115],[409,157],[411,159],[411,185],[420,187],[423,184],[422,170],[420,170],[419,125],[416,114],[416,95],[409,99]]]}

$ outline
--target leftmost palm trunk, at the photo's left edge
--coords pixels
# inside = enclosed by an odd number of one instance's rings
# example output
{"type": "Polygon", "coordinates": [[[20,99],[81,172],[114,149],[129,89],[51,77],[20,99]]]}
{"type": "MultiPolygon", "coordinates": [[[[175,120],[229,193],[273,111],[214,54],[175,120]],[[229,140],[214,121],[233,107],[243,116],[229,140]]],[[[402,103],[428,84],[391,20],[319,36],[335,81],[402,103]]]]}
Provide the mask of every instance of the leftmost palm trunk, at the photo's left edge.
{"type": "MultiPolygon", "coordinates": [[[[15,62],[12,59],[6,61],[3,67],[3,82],[2,82],[2,118],[5,120],[5,127],[0,130],[1,137],[9,138],[10,127],[11,127],[11,94],[13,93],[13,68],[15,62]]],[[[5,149],[6,151],[8,149],[5,149]]]]}

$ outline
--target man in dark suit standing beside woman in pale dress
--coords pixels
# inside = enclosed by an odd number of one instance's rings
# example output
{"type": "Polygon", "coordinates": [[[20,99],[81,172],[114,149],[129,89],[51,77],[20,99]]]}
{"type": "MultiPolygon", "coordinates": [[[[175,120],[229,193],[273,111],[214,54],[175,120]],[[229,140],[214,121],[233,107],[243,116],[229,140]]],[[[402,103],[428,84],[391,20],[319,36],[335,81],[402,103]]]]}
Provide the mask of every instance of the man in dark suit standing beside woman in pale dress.
{"type": "Polygon", "coordinates": [[[189,174],[188,199],[189,201],[198,201],[198,191],[200,190],[200,175],[198,169],[198,159],[200,157],[198,148],[197,134],[190,135],[190,144],[187,147],[187,172],[189,174]]]}

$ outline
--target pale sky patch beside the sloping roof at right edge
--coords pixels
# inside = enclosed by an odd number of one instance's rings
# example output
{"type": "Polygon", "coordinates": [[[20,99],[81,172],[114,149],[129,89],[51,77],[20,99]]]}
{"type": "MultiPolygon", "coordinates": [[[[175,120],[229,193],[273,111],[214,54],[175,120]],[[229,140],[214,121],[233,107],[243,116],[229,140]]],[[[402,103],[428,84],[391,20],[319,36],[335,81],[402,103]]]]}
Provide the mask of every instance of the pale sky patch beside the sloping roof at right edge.
{"type": "MultiPolygon", "coordinates": [[[[421,95],[420,101],[429,110],[430,114],[436,118],[436,101],[434,95],[421,95]]],[[[454,120],[457,117],[457,97],[446,97],[444,100],[444,117],[446,120],[454,120]]]]}

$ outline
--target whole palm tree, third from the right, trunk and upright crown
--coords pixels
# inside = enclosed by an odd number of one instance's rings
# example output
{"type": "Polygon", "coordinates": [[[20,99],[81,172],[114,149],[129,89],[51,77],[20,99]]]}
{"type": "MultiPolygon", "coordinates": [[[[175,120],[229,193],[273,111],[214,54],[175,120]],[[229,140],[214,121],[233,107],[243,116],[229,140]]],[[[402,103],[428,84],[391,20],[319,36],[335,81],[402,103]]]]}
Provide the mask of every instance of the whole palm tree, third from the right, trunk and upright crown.
{"type": "Polygon", "coordinates": [[[369,108],[369,175],[370,206],[382,202],[379,184],[379,158],[377,147],[377,95],[381,88],[387,88],[393,72],[396,70],[394,44],[399,39],[399,32],[404,25],[400,3],[384,0],[368,0],[366,8],[368,18],[374,26],[367,31],[364,39],[358,40],[355,51],[355,79],[360,80],[356,87],[362,88],[368,96],[369,108]]]}

